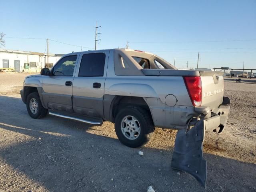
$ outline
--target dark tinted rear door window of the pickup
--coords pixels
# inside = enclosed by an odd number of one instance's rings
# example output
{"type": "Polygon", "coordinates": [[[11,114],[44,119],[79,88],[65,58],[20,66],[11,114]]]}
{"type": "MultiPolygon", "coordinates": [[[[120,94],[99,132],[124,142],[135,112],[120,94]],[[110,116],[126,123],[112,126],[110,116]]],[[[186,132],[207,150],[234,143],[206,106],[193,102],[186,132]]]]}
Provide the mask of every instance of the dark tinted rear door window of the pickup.
{"type": "Polygon", "coordinates": [[[106,55],[91,53],[82,56],[79,74],[80,77],[103,76],[106,55]]]}

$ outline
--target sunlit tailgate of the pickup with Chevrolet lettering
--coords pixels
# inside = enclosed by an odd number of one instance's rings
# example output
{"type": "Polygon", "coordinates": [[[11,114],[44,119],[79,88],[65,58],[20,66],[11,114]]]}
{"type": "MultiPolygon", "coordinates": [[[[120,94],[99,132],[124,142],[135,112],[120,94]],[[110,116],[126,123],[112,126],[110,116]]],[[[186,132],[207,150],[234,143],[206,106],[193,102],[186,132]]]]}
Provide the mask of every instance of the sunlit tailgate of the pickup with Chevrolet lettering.
{"type": "Polygon", "coordinates": [[[202,106],[211,110],[222,104],[224,95],[223,72],[200,71],[202,80],[202,106]]]}

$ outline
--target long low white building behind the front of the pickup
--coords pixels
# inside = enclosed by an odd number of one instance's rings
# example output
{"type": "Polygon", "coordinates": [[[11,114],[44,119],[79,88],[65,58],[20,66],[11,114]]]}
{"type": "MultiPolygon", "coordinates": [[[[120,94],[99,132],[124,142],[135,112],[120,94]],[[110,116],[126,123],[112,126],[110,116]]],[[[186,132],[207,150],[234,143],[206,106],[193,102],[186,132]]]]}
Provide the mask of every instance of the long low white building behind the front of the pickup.
{"type": "Polygon", "coordinates": [[[47,54],[44,53],[0,49],[0,69],[40,72],[44,67],[51,68],[61,57],[61,54],[49,54],[47,63],[47,54]]]}

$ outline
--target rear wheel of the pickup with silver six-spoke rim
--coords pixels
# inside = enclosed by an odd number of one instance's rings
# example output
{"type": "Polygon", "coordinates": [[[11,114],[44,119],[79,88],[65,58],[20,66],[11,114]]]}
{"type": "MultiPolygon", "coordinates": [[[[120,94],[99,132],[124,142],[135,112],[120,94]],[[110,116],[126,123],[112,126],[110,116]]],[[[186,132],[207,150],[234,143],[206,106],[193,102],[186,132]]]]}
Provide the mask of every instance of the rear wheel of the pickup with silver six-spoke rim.
{"type": "Polygon", "coordinates": [[[137,106],[123,108],[116,116],[115,131],[120,142],[128,147],[146,144],[154,132],[150,112],[137,106]]]}

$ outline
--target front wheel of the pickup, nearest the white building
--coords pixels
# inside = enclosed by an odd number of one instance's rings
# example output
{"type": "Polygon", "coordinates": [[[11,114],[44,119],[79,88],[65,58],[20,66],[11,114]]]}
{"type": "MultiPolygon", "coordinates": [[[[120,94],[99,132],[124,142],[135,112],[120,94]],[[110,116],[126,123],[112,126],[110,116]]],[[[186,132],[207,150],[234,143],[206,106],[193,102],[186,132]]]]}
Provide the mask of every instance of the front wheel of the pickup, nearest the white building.
{"type": "Polygon", "coordinates": [[[28,95],[26,105],[28,114],[34,119],[40,119],[47,115],[48,109],[42,106],[40,97],[36,92],[28,95]],[[31,107],[30,104],[32,105],[31,107]]]}

